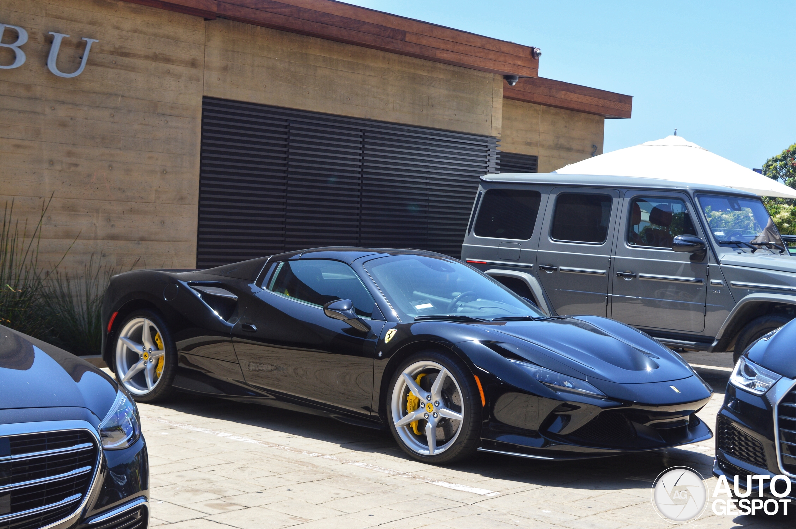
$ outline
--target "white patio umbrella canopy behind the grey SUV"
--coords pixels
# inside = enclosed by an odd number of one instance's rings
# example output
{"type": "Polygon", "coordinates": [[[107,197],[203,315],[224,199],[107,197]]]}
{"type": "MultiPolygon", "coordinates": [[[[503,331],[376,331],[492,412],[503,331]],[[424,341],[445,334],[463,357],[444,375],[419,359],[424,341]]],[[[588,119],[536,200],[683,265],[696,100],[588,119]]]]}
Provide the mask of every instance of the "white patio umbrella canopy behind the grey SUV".
{"type": "Polygon", "coordinates": [[[682,136],[627,147],[566,165],[553,173],[660,178],[693,184],[724,185],[758,196],[796,198],[796,189],[721,158],[682,136]]]}

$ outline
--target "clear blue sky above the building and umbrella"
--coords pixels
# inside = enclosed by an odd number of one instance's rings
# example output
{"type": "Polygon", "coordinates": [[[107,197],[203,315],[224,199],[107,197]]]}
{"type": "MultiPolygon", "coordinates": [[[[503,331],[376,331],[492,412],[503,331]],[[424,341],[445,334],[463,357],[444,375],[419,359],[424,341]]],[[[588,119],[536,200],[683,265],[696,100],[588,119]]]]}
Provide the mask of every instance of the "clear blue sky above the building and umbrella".
{"type": "Polygon", "coordinates": [[[542,49],[539,75],[633,95],[605,151],[672,134],[755,168],[796,143],[796,2],[349,3],[542,49]]]}

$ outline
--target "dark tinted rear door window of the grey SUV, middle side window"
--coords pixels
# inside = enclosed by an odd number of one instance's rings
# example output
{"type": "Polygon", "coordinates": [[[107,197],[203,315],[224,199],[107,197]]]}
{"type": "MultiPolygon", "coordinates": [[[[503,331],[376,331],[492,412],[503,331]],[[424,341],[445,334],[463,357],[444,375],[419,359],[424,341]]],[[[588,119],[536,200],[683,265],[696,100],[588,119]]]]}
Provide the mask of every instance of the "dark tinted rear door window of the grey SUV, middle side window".
{"type": "Polygon", "coordinates": [[[607,239],[610,221],[610,195],[560,193],[550,236],[570,243],[602,244],[607,239]]]}

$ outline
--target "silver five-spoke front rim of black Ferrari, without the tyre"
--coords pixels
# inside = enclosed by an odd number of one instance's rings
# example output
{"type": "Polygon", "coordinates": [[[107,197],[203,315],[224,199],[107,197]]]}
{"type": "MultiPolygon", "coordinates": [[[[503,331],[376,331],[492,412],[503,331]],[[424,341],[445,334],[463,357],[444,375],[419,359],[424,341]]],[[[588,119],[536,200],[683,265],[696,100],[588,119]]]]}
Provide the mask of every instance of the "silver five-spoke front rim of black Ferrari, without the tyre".
{"type": "Polygon", "coordinates": [[[392,420],[401,441],[423,456],[454,445],[467,413],[451,371],[433,361],[408,365],[392,388],[392,420]]]}

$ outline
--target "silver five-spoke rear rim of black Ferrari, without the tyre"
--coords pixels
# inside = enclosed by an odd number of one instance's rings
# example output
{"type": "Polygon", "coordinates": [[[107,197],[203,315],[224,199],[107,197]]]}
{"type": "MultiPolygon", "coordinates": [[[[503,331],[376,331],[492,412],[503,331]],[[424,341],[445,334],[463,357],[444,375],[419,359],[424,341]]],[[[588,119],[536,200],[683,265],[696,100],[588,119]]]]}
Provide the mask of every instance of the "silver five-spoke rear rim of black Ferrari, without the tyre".
{"type": "Polygon", "coordinates": [[[133,395],[147,395],[158,386],[166,360],[160,329],[146,317],[135,317],[119,330],[116,340],[119,382],[133,395]]]}

